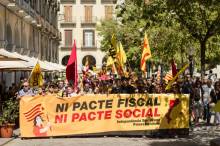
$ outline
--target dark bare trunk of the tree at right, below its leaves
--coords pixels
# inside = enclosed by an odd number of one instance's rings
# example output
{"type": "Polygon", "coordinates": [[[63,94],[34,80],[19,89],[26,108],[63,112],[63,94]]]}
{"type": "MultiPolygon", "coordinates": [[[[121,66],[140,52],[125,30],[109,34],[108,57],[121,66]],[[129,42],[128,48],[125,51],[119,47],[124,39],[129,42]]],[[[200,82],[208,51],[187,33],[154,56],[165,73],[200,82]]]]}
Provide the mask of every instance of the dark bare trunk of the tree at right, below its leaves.
{"type": "Polygon", "coordinates": [[[201,52],[201,77],[205,76],[205,51],[206,51],[206,40],[200,41],[200,52],[201,52]]]}

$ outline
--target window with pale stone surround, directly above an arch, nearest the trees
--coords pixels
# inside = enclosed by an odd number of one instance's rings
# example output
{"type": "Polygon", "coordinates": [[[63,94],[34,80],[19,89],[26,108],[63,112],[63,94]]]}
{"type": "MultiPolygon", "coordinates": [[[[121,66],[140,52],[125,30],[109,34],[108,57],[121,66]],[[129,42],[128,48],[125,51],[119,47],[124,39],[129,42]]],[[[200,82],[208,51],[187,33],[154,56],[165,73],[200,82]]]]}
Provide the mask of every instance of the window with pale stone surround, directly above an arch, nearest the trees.
{"type": "Polygon", "coordinates": [[[95,46],[95,32],[94,30],[83,31],[83,46],[93,47],[95,46]]]}

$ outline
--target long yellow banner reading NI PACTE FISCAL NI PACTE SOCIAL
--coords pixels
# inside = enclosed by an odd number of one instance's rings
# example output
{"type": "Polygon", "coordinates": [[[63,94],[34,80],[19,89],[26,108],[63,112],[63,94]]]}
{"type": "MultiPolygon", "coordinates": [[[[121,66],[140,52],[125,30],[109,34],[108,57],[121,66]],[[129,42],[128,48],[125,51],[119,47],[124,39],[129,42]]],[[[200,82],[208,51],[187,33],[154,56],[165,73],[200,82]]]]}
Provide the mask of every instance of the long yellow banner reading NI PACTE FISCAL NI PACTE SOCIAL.
{"type": "Polygon", "coordinates": [[[174,94],[53,95],[20,100],[22,137],[189,128],[189,96],[174,94]]]}

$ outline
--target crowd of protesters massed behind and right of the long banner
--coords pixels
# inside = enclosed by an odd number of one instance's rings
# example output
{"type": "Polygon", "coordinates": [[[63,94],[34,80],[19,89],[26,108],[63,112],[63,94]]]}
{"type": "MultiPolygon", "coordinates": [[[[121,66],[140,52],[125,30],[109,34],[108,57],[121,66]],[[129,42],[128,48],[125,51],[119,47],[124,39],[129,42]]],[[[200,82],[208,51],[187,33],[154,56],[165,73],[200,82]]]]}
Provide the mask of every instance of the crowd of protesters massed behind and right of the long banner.
{"type": "Polygon", "coordinates": [[[179,77],[170,90],[165,90],[166,86],[167,83],[156,76],[147,79],[135,73],[129,73],[127,76],[117,78],[111,74],[94,75],[88,72],[80,77],[77,88],[65,80],[47,81],[40,88],[31,88],[27,79],[24,78],[19,85],[13,84],[4,95],[5,98],[20,99],[24,95],[56,95],[59,98],[74,98],[82,94],[190,94],[190,113],[195,125],[199,124],[200,119],[210,125],[213,114],[214,123],[220,124],[220,113],[211,111],[211,108],[220,100],[220,80],[213,78],[212,74],[205,79],[185,75],[179,77]]]}

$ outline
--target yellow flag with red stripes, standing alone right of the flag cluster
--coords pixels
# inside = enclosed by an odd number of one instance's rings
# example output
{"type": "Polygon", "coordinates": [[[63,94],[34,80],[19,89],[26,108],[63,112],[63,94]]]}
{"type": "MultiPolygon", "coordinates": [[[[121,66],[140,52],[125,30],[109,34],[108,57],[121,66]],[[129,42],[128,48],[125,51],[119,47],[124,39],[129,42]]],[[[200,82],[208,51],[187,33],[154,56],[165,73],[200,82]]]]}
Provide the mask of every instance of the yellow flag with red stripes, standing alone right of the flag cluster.
{"type": "Polygon", "coordinates": [[[147,34],[145,32],[144,36],[144,48],[141,56],[141,70],[145,72],[146,70],[146,61],[151,58],[150,45],[147,39],[147,34]]]}

